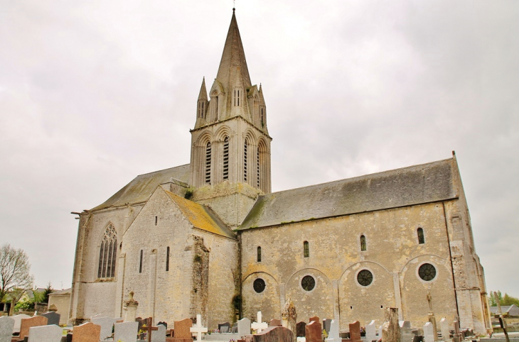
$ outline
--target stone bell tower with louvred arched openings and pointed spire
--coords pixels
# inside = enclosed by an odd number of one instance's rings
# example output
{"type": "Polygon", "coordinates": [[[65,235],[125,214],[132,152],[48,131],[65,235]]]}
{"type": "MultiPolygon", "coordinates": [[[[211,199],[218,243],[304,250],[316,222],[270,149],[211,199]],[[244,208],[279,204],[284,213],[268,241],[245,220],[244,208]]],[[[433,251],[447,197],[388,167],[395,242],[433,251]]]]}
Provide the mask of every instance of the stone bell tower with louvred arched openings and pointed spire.
{"type": "Polygon", "coordinates": [[[218,73],[200,87],[191,130],[193,200],[208,204],[231,228],[260,194],[271,192],[270,138],[263,90],[250,82],[242,39],[232,18],[218,73]]]}

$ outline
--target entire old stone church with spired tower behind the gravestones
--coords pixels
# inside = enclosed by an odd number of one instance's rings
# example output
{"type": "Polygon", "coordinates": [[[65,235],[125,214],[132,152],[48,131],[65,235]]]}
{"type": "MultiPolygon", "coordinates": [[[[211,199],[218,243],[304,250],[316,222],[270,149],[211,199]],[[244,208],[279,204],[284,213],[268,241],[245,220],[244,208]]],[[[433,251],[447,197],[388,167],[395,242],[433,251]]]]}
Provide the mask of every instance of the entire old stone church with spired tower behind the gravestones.
{"type": "MultiPolygon", "coordinates": [[[[232,13],[218,73],[202,82],[191,162],[139,175],[80,213],[70,317],[122,316],[130,291],[154,321],[201,314],[413,326],[435,316],[491,329],[456,156],[271,192],[267,106],[232,13]]],[[[452,328],[451,328],[452,329],[452,328]]]]}

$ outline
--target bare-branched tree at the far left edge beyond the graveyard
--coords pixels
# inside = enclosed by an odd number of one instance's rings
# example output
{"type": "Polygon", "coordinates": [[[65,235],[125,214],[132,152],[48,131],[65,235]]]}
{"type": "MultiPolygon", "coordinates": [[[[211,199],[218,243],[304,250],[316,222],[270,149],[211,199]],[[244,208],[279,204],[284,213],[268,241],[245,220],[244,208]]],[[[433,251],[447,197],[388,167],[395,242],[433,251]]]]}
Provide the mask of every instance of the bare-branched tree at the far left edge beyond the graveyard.
{"type": "Polygon", "coordinates": [[[23,292],[33,287],[34,276],[31,275],[31,264],[23,249],[12,248],[6,243],[0,248],[0,302],[6,294],[16,292],[11,301],[11,308],[23,292]],[[21,292],[21,294],[20,294],[21,292]],[[16,299],[16,300],[15,300],[16,299]]]}

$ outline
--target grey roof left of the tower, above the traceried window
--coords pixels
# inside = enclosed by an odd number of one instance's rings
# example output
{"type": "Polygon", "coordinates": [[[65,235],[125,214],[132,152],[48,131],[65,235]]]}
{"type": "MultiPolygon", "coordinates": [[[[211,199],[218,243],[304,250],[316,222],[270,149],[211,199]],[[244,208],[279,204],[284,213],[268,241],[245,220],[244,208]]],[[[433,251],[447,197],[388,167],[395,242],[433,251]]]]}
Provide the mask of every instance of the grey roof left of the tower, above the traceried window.
{"type": "Polygon", "coordinates": [[[171,178],[177,183],[179,180],[187,184],[189,181],[189,164],[139,175],[107,199],[105,203],[96,206],[90,211],[107,209],[111,206],[146,202],[159,184],[170,182],[171,178]]]}

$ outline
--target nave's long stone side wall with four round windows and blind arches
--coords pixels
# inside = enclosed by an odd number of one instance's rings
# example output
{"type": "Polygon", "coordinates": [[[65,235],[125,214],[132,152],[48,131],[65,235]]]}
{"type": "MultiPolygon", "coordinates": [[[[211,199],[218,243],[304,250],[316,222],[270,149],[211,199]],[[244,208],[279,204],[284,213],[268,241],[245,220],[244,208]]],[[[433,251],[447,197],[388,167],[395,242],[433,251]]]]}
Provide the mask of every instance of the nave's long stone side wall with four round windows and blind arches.
{"type": "Polygon", "coordinates": [[[437,316],[453,320],[456,300],[449,257],[449,239],[442,203],[406,206],[330,219],[252,228],[242,236],[242,294],[244,316],[261,309],[264,319],[279,319],[279,311],[289,298],[298,319],[310,316],[341,320],[341,329],[358,320],[361,325],[375,319],[382,324],[385,307],[399,307],[401,319],[422,326],[429,307],[427,291],[433,297],[437,316]],[[425,243],[419,244],[417,228],[424,230],[425,243]],[[366,250],[361,250],[365,236],[366,250]],[[309,257],[304,257],[304,241],[309,257]],[[262,261],[257,262],[257,247],[262,261]],[[419,278],[423,263],[434,265],[432,281],[419,278]],[[359,284],[361,270],[369,270],[373,281],[359,284]],[[314,278],[311,291],[301,287],[305,275],[314,278]],[[267,284],[256,293],[254,280],[267,284]]]}

